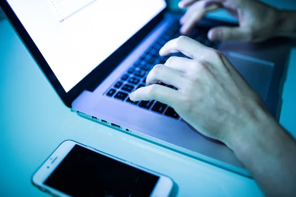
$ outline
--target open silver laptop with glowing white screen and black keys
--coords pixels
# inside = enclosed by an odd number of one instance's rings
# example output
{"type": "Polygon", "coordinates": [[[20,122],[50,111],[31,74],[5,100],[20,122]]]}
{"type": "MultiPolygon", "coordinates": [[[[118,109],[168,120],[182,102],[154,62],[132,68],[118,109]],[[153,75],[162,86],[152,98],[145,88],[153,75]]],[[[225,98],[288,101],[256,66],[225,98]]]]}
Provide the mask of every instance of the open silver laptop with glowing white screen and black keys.
{"type": "MultiPolygon", "coordinates": [[[[165,0],[0,0],[0,6],[74,113],[250,177],[228,147],[195,131],[172,107],[129,99],[168,59],[159,49],[180,36],[182,14],[169,12],[165,0]]],[[[222,51],[278,117],[289,40],[211,42],[207,32],[215,26],[237,24],[203,19],[188,36],[222,51]]]]}

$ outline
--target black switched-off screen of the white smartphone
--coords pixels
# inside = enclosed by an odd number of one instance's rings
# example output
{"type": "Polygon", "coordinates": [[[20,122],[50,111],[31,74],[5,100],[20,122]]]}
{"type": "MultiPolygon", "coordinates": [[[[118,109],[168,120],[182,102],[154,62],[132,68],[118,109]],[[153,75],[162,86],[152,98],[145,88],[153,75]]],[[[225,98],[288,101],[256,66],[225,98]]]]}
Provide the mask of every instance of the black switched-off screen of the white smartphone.
{"type": "Polygon", "coordinates": [[[74,197],[148,197],[159,177],[75,145],[44,185],[74,197]]]}

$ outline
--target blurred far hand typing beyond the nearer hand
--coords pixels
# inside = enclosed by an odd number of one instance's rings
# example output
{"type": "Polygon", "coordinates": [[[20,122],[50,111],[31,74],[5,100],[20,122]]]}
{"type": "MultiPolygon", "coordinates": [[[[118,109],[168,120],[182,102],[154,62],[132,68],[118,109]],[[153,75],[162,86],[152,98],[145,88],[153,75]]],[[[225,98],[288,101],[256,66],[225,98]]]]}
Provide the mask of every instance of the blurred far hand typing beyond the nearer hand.
{"type": "Polygon", "coordinates": [[[187,8],[181,18],[181,33],[189,33],[208,13],[225,9],[239,22],[239,27],[215,27],[208,37],[212,41],[243,40],[259,42],[282,32],[281,11],[257,0],[181,0],[180,8],[187,8]]]}

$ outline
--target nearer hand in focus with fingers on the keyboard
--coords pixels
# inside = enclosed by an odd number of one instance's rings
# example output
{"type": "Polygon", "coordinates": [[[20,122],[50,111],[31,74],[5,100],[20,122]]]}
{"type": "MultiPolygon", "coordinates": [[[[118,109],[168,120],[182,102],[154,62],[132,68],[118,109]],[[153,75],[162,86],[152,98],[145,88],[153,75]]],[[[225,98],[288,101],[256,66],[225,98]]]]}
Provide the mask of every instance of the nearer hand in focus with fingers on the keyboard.
{"type": "Polygon", "coordinates": [[[252,120],[265,111],[263,101],[221,52],[180,36],[159,53],[177,52],[191,59],[170,57],[164,65],[154,66],[147,86],[133,92],[130,99],[168,104],[197,131],[231,148],[230,138],[242,128],[250,129],[252,120]]]}

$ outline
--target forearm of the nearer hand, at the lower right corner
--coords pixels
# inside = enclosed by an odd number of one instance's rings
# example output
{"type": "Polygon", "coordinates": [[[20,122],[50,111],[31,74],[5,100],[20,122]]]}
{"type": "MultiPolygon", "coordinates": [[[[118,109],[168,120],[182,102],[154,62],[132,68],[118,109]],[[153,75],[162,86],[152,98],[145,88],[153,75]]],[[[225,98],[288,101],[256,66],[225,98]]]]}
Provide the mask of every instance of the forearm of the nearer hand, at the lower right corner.
{"type": "Polygon", "coordinates": [[[232,139],[232,149],[266,196],[294,196],[296,142],[270,115],[260,115],[232,139]]]}

